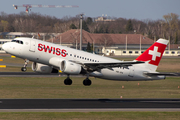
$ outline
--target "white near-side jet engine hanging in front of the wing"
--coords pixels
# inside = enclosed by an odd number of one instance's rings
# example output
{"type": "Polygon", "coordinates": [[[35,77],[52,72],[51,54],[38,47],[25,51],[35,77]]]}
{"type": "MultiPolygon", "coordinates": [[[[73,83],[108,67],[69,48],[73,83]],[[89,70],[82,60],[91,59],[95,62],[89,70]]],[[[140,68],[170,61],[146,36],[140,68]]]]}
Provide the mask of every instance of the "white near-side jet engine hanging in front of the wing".
{"type": "Polygon", "coordinates": [[[78,75],[82,71],[82,67],[79,64],[63,60],[61,62],[61,71],[66,74],[78,75]]]}

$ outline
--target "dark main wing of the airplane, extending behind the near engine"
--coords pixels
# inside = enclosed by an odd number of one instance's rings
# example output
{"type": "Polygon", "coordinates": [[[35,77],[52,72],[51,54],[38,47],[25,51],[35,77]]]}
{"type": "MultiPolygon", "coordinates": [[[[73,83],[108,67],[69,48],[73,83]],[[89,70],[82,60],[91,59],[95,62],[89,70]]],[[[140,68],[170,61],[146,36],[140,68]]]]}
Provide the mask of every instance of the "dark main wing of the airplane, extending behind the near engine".
{"type": "Polygon", "coordinates": [[[92,71],[97,71],[99,69],[108,68],[112,69],[113,67],[123,67],[129,69],[129,66],[133,64],[141,64],[142,61],[122,61],[122,62],[112,62],[112,63],[83,63],[86,68],[89,68],[92,71]]]}

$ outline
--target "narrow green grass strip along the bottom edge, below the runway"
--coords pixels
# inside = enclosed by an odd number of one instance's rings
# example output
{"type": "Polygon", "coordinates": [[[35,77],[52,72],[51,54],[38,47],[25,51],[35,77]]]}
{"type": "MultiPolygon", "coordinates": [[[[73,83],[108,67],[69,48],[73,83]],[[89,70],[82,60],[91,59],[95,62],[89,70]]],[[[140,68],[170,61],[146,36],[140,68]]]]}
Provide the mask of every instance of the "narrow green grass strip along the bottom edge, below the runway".
{"type": "Polygon", "coordinates": [[[179,120],[180,112],[2,112],[1,120],[179,120]]]}

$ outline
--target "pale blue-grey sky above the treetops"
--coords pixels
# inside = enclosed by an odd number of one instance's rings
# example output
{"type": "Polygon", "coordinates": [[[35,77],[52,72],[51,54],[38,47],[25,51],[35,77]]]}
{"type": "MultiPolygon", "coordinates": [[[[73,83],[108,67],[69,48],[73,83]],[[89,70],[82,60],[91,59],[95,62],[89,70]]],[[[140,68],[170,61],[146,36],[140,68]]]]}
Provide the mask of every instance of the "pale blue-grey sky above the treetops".
{"type": "MultiPolygon", "coordinates": [[[[86,17],[108,17],[158,20],[163,15],[175,13],[180,16],[180,0],[0,0],[0,12],[18,14],[25,12],[24,7],[17,10],[12,6],[33,5],[77,5],[78,8],[32,8],[30,12],[63,18],[84,13],[86,17]]],[[[180,17],[179,17],[180,18],[180,17]]]]}

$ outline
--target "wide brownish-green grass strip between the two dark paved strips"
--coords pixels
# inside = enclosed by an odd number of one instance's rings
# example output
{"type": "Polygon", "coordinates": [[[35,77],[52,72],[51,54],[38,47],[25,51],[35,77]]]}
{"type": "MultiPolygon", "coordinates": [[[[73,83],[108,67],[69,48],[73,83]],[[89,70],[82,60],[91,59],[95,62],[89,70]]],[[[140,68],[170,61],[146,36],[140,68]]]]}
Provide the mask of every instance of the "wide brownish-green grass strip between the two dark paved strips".
{"type": "Polygon", "coordinates": [[[1,77],[0,95],[1,98],[180,98],[179,77],[140,82],[90,78],[89,87],[82,84],[85,78],[71,78],[73,84],[65,86],[65,77],[1,77]]]}

